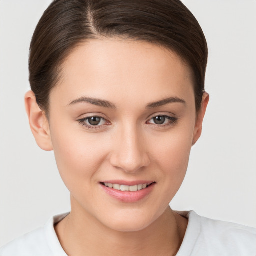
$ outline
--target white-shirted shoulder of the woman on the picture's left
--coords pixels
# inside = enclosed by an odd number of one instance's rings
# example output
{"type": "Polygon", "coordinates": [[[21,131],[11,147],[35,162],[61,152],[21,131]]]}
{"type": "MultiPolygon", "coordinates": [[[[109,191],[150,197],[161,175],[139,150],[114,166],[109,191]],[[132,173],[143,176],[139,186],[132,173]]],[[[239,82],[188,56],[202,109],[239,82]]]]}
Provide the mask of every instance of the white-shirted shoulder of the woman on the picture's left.
{"type": "Polygon", "coordinates": [[[51,217],[48,222],[40,228],[26,233],[0,248],[1,256],[34,256],[34,255],[64,255],[57,235],[54,223],[60,221],[67,214],[51,217]]]}

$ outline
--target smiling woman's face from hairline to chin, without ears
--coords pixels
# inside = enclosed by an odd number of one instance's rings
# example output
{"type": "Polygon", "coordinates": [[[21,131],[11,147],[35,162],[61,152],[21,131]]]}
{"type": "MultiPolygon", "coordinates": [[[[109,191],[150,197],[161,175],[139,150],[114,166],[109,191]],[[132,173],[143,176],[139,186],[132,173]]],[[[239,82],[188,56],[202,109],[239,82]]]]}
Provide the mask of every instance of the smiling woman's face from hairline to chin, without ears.
{"type": "Polygon", "coordinates": [[[157,220],[185,176],[197,126],[190,70],[175,53],[121,39],[75,48],[49,114],[72,211],[121,231],[157,220]]]}

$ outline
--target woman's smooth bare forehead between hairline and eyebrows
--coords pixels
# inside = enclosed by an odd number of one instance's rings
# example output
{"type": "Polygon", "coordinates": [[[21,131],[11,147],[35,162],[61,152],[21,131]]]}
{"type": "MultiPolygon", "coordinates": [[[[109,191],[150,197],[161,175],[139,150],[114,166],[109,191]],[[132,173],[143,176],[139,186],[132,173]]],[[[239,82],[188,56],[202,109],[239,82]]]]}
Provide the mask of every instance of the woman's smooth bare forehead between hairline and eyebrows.
{"type": "MultiPolygon", "coordinates": [[[[146,104],[166,96],[191,97],[189,67],[169,49],[148,42],[93,39],[65,59],[52,95],[64,104],[80,96],[146,104]],[[169,95],[167,95],[169,94],[169,95]]],[[[118,102],[116,102],[118,103],[118,102]]]]}

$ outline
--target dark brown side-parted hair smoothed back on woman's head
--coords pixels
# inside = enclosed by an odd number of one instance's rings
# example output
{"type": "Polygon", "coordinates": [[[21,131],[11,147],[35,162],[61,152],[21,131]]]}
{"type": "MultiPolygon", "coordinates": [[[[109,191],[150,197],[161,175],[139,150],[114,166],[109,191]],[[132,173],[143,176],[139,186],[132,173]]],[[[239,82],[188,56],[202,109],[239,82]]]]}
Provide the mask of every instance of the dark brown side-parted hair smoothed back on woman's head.
{"type": "Polygon", "coordinates": [[[199,110],[207,43],[197,20],[180,0],[54,0],[36,26],[29,56],[31,89],[46,114],[49,93],[71,50],[86,40],[116,36],[160,45],[180,56],[192,70],[199,110]]]}

